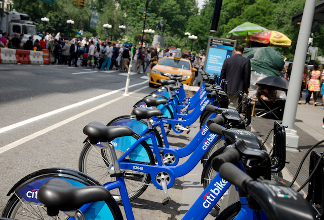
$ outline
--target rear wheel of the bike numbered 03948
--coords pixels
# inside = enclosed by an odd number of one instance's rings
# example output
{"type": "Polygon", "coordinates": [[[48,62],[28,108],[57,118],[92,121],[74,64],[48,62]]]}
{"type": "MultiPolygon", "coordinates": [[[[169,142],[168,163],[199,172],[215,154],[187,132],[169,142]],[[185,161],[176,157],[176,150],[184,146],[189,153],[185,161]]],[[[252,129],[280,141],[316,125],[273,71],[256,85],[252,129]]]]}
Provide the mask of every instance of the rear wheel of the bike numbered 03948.
{"type": "MultiPolygon", "coordinates": [[[[138,140],[140,136],[134,134],[133,137],[138,140]]],[[[154,157],[148,144],[143,141],[142,146],[146,151],[149,158],[149,162],[144,162],[144,164],[154,165],[154,157]]],[[[128,148],[128,147],[127,147],[128,148]]],[[[126,149],[127,149],[126,148],[126,149]]],[[[123,151],[116,150],[117,158],[123,155],[123,151]]],[[[128,157],[130,160],[130,158],[128,157]]],[[[134,163],[142,163],[138,161],[132,161],[134,163]]],[[[142,163],[143,164],[143,163],[142,163]]],[[[115,177],[110,177],[109,173],[112,168],[110,154],[107,149],[97,149],[93,147],[89,142],[84,145],[80,156],[79,156],[79,171],[86,173],[93,178],[97,179],[101,184],[106,184],[107,182],[115,181],[115,177]]],[[[134,200],[140,195],[142,195],[148,187],[151,181],[151,177],[148,173],[143,173],[135,170],[127,170],[124,173],[125,185],[130,200],[134,200]]],[[[118,189],[109,191],[115,201],[118,204],[122,204],[121,197],[118,189]]]]}

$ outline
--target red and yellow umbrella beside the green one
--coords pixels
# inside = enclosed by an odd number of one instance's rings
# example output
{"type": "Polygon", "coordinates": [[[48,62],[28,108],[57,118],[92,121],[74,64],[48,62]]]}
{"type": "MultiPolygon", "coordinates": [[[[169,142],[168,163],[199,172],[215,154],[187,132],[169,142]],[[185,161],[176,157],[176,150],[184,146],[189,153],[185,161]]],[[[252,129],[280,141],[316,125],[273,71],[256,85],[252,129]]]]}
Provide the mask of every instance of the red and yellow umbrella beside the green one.
{"type": "Polygon", "coordinates": [[[288,36],[275,30],[268,30],[256,33],[250,37],[250,41],[258,42],[261,44],[267,44],[274,47],[292,46],[292,40],[290,40],[288,36]]]}

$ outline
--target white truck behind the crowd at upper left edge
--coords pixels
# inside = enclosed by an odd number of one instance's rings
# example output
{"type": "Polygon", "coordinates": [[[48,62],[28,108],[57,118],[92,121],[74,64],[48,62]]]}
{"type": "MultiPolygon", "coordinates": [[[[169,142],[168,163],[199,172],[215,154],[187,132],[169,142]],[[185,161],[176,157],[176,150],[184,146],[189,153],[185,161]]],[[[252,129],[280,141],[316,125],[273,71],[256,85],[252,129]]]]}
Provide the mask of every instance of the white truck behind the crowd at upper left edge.
{"type": "Polygon", "coordinates": [[[11,34],[11,38],[15,33],[24,34],[23,42],[25,43],[29,36],[34,35],[34,39],[40,41],[42,38],[37,35],[36,23],[30,21],[30,16],[18,12],[4,12],[1,16],[0,30],[11,34]]]}

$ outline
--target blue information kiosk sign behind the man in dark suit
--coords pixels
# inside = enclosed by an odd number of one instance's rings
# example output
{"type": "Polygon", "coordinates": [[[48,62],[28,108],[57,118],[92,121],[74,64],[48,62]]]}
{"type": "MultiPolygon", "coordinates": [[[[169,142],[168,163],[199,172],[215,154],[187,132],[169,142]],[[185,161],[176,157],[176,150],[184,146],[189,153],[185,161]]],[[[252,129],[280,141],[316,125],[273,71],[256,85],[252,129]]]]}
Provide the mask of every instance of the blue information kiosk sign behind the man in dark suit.
{"type": "Polygon", "coordinates": [[[209,75],[221,75],[224,60],[234,55],[236,40],[209,37],[206,53],[205,71],[209,75]]]}

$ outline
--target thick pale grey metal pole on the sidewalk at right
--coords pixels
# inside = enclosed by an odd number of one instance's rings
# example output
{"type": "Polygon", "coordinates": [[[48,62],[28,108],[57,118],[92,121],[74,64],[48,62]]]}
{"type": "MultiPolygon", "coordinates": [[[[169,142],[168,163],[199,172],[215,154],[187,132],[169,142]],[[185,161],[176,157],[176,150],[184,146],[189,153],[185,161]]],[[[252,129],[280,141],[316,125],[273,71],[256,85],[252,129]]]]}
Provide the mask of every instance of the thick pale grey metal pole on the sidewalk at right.
{"type": "Polygon", "coordinates": [[[292,75],[289,81],[284,118],[282,120],[282,124],[288,126],[286,129],[286,149],[291,151],[298,151],[299,136],[297,135],[297,131],[294,130],[294,125],[308,48],[308,39],[313,23],[315,2],[316,0],[306,0],[305,3],[295,50],[292,75]]]}

